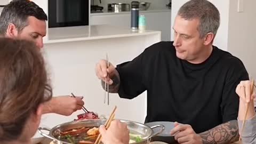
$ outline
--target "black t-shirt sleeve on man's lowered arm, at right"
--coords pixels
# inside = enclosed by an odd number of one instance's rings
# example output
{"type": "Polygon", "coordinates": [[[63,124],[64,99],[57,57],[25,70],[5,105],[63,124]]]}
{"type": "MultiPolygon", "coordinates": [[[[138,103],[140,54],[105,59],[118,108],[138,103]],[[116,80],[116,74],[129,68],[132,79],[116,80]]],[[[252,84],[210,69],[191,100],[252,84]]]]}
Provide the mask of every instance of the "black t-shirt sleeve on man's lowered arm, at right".
{"type": "Polygon", "coordinates": [[[231,59],[232,62],[227,73],[221,102],[221,113],[223,123],[237,119],[239,97],[235,91],[236,86],[241,81],[249,79],[249,75],[242,61],[234,57],[231,59]]]}

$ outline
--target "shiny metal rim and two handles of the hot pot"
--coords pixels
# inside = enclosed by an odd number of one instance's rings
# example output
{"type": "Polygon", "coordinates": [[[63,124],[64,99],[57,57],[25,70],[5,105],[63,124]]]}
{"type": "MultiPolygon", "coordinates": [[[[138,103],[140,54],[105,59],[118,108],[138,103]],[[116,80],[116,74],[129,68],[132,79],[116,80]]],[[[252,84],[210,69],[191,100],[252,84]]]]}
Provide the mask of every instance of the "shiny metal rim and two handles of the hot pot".
{"type": "MultiPolygon", "coordinates": [[[[52,139],[55,144],[72,144],[69,142],[61,141],[58,138],[60,132],[71,130],[71,129],[78,129],[81,127],[94,127],[94,126],[98,127],[102,124],[105,124],[106,120],[107,119],[86,119],[82,121],[73,121],[73,122],[57,125],[52,129],[49,129],[46,127],[39,127],[38,132],[44,137],[52,139]],[[43,130],[49,131],[49,134],[44,133],[43,130]]],[[[163,125],[155,125],[155,126],[149,127],[145,124],[132,122],[132,121],[121,120],[121,122],[124,122],[127,124],[127,127],[130,130],[130,132],[136,132],[141,134],[143,141],[135,142],[136,144],[148,144],[152,137],[155,137],[156,135],[164,131],[163,125]],[[158,129],[160,128],[160,130],[154,133],[153,129],[155,128],[158,128],[158,129]]]]}

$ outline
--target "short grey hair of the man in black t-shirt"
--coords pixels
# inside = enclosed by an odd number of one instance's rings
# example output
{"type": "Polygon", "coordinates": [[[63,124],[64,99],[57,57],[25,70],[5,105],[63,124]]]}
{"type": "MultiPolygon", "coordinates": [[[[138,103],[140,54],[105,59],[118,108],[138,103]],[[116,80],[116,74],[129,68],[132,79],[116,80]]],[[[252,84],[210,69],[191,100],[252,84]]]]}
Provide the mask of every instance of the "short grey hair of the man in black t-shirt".
{"type": "Polygon", "coordinates": [[[211,2],[207,0],[190,0],[183,4],[178,15],[185,20],[199,19],[200,37],[203,38],[207,33],[217,34],[220,26],[220,13],[211,2]]]}

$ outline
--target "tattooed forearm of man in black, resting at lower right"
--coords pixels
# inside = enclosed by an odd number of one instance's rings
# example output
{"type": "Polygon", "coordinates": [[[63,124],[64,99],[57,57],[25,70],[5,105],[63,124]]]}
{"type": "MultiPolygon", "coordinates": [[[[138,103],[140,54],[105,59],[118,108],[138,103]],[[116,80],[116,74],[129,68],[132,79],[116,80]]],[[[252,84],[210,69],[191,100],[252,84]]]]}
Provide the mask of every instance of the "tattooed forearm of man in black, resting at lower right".
{"type": "Polygon", "coordinates": [[[230,143],[237,141],[239,138],[237,120],[223,123],[199,135],[203,143],[230,143]]]}

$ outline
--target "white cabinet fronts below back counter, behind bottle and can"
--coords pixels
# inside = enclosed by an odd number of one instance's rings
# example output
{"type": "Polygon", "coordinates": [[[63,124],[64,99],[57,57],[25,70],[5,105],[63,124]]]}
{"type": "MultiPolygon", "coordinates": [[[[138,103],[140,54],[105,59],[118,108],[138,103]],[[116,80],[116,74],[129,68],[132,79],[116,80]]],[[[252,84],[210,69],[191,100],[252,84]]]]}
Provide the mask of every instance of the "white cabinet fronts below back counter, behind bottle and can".
{"type": "MultiPolygon", "coordinates": [[[[171,10],[141,11],[145,15],[147,29],[162,32],[162,41],[171,39],[171,10]]],[[[90,25],[112,25],[121,27],[131,26],[131,13],[92,13],[90,25]]]]}

